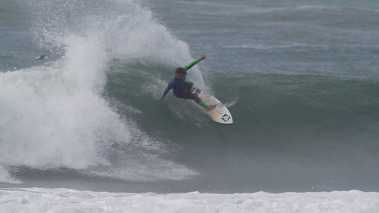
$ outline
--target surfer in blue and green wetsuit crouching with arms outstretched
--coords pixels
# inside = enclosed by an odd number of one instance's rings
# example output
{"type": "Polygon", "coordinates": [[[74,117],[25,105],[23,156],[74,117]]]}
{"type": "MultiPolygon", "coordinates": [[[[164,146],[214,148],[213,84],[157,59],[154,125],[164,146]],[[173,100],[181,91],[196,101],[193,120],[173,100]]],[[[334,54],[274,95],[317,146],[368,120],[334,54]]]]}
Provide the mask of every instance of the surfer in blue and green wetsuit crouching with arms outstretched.
{"type": "Polygon", "coordinates": [[[202,55],[200,58],[192,61],[186,66],[178,67],[175,70],[175,75],[172,77],[171,81],[168,83],[166,90],[164,90],[162,97],[159,98],[159,101],[162,102],[164,96],[166,96],[168,91],[172,89],[173,95],[177,98],[194,100],[197,104],[199,104],[201,107],[205,108],[208,111],[215,109],[216,104],[207,105],[207,103],[200,100],[197,94],[192,93],[194,89],[193,83],[185,81],[186,76],[187,76],[187,70],[190,69],[193,65],[195,65],[199,61],[206,59],[206,57],[207,57],[206,55],[202,55]]]}

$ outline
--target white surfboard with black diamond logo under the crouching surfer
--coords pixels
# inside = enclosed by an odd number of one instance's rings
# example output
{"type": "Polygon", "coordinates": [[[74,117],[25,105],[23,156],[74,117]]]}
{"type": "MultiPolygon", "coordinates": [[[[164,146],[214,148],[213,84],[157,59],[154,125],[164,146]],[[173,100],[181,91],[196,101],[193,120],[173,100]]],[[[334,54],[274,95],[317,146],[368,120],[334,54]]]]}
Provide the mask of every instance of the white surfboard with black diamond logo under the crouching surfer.
{"type": "Polygon", "coordinates": [[[233,123],[233,118],[231,117],[229,110],[217,98],[213,97],[212,95],[205,94],[204,91],[198,88],[195,88],[192,93],[196,93],[199,96],[199,98],[202,101],[206,102],[208,105],[217,104],[216,108],[210,111],[207,111],[206,109],[202,108],[203,111],[205,111],[212,120],[220,124],[233,123]]]}

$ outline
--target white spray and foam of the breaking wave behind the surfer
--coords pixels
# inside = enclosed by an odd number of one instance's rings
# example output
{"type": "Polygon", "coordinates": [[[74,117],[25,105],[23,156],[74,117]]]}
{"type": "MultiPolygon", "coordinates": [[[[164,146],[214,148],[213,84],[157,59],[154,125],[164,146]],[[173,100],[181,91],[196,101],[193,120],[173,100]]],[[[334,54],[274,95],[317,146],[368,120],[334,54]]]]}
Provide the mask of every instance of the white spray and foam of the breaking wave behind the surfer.
{"type": "MultiPolygon", "coordinates": [[[[57,59],[0,74],[0,165],[65,167],[132,181],[195,174],[161,159],[164,146],[101,96],[111,60],[184,64],[191,60],[186,43],[136,1],[45,0],[26,7],[35,42],[57,59]],[[130,141],[138,143],[128,153],[118,149],[130,141]]],[[[199,70],[193,73],[203,85],[199,70]]],[[[9,173],[0,167],[4,179],[9,173]]]]}

